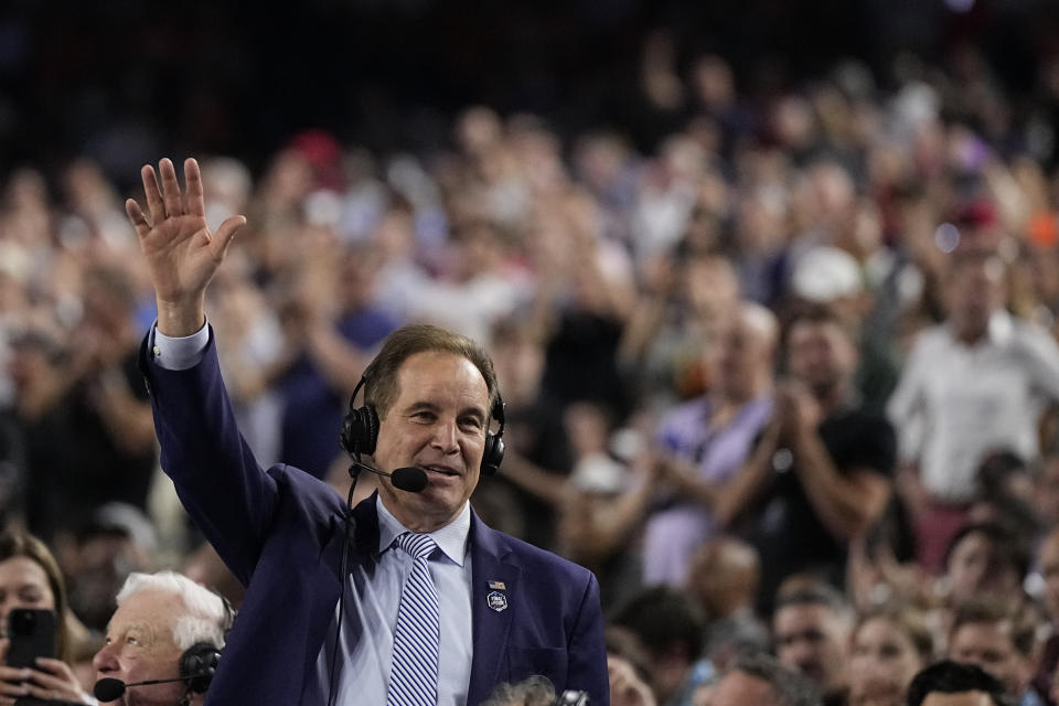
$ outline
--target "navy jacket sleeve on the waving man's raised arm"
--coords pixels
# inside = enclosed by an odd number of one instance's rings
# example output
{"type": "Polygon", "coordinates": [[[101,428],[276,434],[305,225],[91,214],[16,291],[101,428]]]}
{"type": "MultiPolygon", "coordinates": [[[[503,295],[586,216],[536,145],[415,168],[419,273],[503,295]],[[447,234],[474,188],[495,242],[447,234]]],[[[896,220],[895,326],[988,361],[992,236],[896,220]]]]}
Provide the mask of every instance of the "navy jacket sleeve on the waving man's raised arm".
{"type": "Polygon", "coordinates": [[[140,347],[162,470],[184,509],[245,586],[276,509],[277,484],[257,463],[236,425],[213,330],[194,367],[171,371],[140,347]]]}

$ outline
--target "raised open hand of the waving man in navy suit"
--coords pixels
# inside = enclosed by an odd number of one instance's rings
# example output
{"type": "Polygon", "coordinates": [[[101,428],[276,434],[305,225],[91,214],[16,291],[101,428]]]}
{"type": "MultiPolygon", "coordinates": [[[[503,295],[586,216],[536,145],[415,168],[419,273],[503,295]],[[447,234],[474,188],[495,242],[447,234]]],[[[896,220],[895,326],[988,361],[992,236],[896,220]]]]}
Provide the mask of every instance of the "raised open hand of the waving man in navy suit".
{"type": "Polygon", "coordinates": [[[211,233],[199,162],[190,158],[184,162],[183,193],[173,163],[163,159],[158,167],[161,185],[150,164],[140,170],[148,213],[133,199],[125,203],[125,210],[147,258],[158,301],[158,330],[170,336],[185,336],[205,323],[206,287],[246,218],[233,216],[211,233]]]}

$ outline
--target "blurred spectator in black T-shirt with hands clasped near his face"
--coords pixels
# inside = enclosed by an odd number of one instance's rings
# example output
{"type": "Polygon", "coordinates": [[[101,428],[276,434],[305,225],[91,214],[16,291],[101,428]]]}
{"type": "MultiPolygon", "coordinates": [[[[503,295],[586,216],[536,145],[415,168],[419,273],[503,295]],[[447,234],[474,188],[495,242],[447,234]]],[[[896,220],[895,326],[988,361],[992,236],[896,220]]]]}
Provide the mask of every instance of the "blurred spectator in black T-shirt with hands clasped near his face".
{"type": "Polygon", "coordinates": [[[823,571],[843,585],[849,542],[882,516],[890,498],[894,430],[859,404],[856,361],[848,331],[827,310],[792,318],[791,379],[779,385],[771,424],[717,501],[721,523],[746,532],[761,555],[762,614],[796,571],[823,571]]]}

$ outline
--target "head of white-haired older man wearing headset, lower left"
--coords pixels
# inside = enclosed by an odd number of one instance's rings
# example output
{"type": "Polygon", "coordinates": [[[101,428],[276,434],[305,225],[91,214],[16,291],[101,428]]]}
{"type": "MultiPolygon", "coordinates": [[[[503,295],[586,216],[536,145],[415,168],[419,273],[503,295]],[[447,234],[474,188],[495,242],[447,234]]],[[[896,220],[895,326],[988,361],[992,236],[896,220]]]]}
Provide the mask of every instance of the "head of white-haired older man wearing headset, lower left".
{"type": "Polygon", "coordinates": [[[200,706],[231,628],[232,610],[221,596],[173,571],[131,574],[118,592],[106,644],[93,659],[100,700],[124,706],[200,706]],[[109,692],[109,693],[108,693],[109,692]]]}

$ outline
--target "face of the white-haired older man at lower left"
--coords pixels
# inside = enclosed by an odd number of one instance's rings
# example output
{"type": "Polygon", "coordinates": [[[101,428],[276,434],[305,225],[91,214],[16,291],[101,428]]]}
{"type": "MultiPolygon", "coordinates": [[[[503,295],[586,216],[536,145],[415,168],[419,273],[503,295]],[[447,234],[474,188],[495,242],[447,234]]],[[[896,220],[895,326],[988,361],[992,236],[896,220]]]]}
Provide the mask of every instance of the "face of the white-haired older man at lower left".
{"type": "MultiPolygon", "coordinates": [[[[174,641],[172,628],[182,602],[171,592],[151,589],[129,596],[110,618],[106,644],[92,661],[96,678],[117,678],[128,684],[178,676],[183,650],[174,641]]],[[[184,691],[181,682],[138,686],[126,692],[120,703],[169,705],[176,703],[184,691]]]]}

